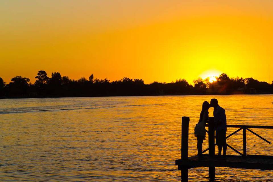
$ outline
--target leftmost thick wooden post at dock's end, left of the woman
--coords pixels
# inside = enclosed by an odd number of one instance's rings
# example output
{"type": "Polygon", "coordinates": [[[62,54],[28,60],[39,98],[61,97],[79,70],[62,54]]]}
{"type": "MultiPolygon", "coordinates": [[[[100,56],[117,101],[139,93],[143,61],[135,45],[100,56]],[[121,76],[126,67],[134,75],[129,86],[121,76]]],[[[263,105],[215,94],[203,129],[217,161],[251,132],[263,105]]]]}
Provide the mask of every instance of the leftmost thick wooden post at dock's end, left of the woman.
{"type": "MultiPolygon", "coordinates": [[[[182,117],[181,125],[181,159],[188,160],[189,117],[182,117]]],[[[188,182],[188,167],[181,166],[181,182],[188,182]]]]}

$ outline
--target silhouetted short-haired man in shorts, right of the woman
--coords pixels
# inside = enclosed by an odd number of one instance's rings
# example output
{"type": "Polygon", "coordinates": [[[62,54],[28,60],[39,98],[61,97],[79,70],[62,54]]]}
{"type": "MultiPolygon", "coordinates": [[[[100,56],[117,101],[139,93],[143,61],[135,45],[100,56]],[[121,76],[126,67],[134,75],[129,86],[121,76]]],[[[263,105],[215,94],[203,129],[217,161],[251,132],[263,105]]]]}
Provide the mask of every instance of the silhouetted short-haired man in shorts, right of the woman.
{"type": "Polygon", "coordinates": [[[226,142],[226,132],[227,132],[227,118],[226,111],[218,105],[217,99],[210,100],[210,107],[214,107],[213,117],[214,117],[214,129],[216,135],[216,145],[218,145],[218,156],[221,157],[222,148],[223,156],[226,157],[227,152],[227,142],[226,142]]]}

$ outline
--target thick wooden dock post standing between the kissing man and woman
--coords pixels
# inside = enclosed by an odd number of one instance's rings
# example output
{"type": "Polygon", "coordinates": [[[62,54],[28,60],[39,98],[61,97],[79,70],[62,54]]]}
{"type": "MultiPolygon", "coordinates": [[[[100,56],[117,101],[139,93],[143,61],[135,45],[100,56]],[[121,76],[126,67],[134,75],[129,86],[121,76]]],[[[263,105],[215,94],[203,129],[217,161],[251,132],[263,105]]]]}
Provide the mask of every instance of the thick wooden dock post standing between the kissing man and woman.
{"type": "MultiPolygon", "coordinates": [[[[214,118],[208,118],[208,154],[210,157],[215,155],[215,146],[214,146],[214,118]]],[[[210,180],[213,181],[215,179],[215,167],[208,167],[208,173],[210,180]]]]}

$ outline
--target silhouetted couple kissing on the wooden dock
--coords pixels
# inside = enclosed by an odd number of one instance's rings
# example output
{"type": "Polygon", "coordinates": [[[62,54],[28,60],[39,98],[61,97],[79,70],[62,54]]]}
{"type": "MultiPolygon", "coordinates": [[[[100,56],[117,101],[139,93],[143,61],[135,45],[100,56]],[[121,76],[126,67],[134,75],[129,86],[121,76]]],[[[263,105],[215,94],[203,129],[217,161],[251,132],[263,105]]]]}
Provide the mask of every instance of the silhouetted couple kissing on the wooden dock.
{"type": "Polygon", "coordinates": [[[205,125],[208,123],[208,109],[214,107],[214,129],[216,135],[216,145],[218,145],[218,156],[221,157],[223,148],[223,157],[226,157],[227,143],[226,143],[226,131],[227,131],[227,118],[226,111],[218,105],[217,99],[211,99],[210,103],[207,101],[203,102],[202,111],[200,113],[199,122],[194,128],[194,134],[197,137],[197,150],[198,157],[202,156],[202,144],[206,137],[205,125]]]}

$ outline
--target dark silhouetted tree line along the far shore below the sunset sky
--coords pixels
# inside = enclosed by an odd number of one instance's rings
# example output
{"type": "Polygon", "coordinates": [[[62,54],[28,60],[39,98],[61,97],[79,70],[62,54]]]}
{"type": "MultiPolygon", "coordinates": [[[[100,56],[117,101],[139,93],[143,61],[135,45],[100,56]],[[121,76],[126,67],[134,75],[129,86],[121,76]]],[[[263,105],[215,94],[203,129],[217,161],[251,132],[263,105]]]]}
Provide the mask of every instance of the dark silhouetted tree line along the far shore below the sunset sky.
{"type": "Polygon", "coordinates": [[[175,82],[153,82],[144,84],[142,79],[124,77],[121,80],[88,79],[82,77],[71,80],[59,72],[47,76],[46,71],[38,71],[34,84],[29,78],[15,76],[7,84],[0,77],[1,98],[30,97],[89,97],[89,96],[150,96],[150,95],[193,95],[193,94],[272,94],[273,82],[260,82],[254,78],[229,78],[225,73],[210,82],[209,78],[197,78],[193,84],[185,79],[175,82]]]}

